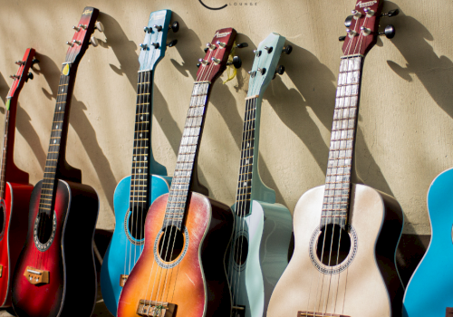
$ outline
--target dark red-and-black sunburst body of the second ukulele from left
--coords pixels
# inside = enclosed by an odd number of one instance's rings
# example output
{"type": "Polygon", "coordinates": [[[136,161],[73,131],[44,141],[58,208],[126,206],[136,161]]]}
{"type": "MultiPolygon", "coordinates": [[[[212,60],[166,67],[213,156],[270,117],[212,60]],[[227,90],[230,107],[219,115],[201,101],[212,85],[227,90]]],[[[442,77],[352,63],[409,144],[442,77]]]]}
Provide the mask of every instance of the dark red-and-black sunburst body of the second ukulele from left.
{"type": "Polygon", "coordinates": [[[54,237],[47,250],[34,244],[42,182],[30,199],[28,235],[14,271],[13,307],[18,316],[90,316],[96,302],[92,238],[99,211],[92,187],[58,179],[54,203],[54,237]],[[27,266],[49,272],[49,283],[32,284],[27,266]]]}

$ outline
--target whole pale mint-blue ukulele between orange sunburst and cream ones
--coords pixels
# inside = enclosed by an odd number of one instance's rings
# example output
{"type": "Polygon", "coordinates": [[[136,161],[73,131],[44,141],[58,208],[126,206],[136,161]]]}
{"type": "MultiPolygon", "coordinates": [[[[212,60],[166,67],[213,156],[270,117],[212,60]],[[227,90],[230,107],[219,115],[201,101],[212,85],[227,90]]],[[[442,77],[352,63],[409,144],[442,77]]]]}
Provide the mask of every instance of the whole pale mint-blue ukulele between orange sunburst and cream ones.
{"type": "Polygon", "coordinates": [[[276,73],[284,47],[284,37],[269,34],[254,51],[246,98],[241,164],[237,182],[235,229],[226,259],[227,276],[233,300],[233,316],[262,317],[275,284],[288,264],[292,232],[289,210],[275,204],[275,191],[266,187],[258,172],[259,119],[266,87],[276,73]]]}

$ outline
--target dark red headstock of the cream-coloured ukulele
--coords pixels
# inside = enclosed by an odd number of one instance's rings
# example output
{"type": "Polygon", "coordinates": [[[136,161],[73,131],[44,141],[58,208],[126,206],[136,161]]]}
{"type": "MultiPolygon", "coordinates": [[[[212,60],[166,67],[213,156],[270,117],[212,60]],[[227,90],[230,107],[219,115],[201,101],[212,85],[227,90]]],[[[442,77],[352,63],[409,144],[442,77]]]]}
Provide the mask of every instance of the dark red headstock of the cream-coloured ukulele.
{"type": "Polygon", "coordinates": [[[344,41],[342,52],[344,55],[365,55],[378,41],[378,36],[385,34],[388,38],[395,35],[393,25],[387,25],[384,32],[379,32],[379,23],[383,16],[395,16],[399,10],[392,10],[387,14],[381,14],[383,0],[358,0],[352,15],[344,21],[346,36],[341,36],[344,41]]]}

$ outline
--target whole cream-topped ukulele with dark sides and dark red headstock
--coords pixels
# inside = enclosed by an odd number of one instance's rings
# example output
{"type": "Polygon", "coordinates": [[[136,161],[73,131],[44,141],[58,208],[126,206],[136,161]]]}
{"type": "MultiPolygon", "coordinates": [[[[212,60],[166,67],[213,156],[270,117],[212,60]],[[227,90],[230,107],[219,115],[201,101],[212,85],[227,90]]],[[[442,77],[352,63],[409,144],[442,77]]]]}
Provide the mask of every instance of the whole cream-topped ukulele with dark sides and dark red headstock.
{"type": "MultiPolygon", "coordinates": [[[[294,210],[294,255],[275,286],[268,317],[400,316],[395,252],[400,205],[351,181],[363,59],[377,41],[382,0],[359,0],[346,19],[325,185],[294,210]]],[[[392,37],[392,26],[385,32],[392,37]]],[[[341,38],[342,39],[342,38],[341,38]]]]}

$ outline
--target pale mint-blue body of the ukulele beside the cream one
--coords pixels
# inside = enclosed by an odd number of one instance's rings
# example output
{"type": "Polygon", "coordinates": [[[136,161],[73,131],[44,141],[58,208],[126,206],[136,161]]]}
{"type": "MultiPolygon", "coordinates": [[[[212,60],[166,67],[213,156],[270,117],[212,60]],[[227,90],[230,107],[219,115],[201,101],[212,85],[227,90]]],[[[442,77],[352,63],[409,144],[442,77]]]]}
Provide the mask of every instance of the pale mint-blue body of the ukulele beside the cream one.
{"type": "Polygon", "coordinates": [[[230,279],[233,281],[231,293],[237,305],[246,306],[246,317],[262,317],[275,284],[288,264],[291,213],[283,205],[253,200],[252,213],[245,221],[236,215],[235,223],[236,241],[232,241],[232,247],[244,252],[247,249],[248,255],[243,254],[240,259],[230,255],[227,274],[234,276],[230,279]],[[241,244],[241,236],[246,237],[246,242],[242,247],[236,246],[241,244]]]}

